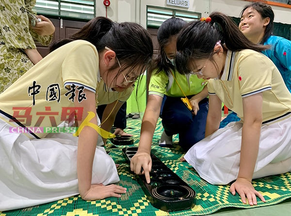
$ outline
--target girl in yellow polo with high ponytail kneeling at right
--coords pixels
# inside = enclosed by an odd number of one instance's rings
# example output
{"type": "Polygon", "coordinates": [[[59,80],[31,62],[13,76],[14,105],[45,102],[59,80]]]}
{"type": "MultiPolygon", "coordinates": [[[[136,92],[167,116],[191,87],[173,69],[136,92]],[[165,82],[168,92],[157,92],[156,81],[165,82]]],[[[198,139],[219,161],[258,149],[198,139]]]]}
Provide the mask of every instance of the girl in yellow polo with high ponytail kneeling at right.
{"type": "Polygon", "coordinates": [[[230,192],[256,205],[252,179],[291,170],[291,93],[274,63],[261,54],[268,46],[244,37],[224,14],[191,22],[178,36],[176,65],[209,79],[205,139],[184,156],[210,184],[233,182],[230,192]],[[241,122],[219,128],[222,102],[241,122]]]}

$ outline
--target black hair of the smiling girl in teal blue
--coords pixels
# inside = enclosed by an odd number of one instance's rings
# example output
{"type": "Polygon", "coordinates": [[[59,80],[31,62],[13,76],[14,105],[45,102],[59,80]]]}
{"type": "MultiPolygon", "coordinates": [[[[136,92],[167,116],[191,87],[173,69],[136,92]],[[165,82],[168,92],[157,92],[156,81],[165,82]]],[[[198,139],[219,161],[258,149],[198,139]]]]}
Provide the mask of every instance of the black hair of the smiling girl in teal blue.
{"type": "Polygon", "coordinates": [[[266,42],[266,40],[273,34],[273,29],[274,29],[274,11],[272,9],[272,7],[268,4],[265,4],[263,2],[253,2],[250,4],[247,4],[243,7],[242,12],[241,12],[241,17],[243,12],[247,9],[247,8],[254,8],[256,11],[258,11],[258,13],[261,15],[261,17],[270,18],[270,22],[269,24],[266,26],[265,32],[264,32],[264,36],[262,38],[262,40],[260,41],[260,44],[264,44],[266,42]]]}

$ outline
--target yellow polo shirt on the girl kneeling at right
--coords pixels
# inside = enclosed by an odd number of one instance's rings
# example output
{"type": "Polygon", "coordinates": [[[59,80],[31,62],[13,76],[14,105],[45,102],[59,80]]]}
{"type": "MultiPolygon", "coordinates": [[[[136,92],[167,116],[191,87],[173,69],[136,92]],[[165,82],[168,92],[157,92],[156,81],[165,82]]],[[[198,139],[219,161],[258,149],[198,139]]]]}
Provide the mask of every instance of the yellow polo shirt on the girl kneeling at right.
{"type": "Polygon", "coordinates": [[[268,57],[254,50],[228,50],[223,75],[208,81],[208,91],[216,94],[242,121],[242,98],[261,92],[263,123],[291,112],[291,93],[280,72],[268,57]]]}

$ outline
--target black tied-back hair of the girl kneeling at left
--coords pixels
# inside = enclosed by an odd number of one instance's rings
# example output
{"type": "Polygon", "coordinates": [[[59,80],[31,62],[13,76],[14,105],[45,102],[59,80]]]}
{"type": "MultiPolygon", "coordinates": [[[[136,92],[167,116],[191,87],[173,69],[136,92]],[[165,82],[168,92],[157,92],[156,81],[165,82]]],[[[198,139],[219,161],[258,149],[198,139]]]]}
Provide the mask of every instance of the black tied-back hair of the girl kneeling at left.
{"type": "MultiPolygon", "coordinates": [[[[116,77],[127,68],[130,68],[129,73],[133,72],[133,68],[138,68],[139,75],[142,75],[151,66],[152,40],[149,32],[137,23],[117,23],[103,16],[95,17],[69,38],[53,42],[50,51],[75,40],[92,43],[98,52],[104,50],[105,46],[112,49],[122,64],[116,77]]],[[[117,67],[116,62],[112,69],[117,67]]]]}

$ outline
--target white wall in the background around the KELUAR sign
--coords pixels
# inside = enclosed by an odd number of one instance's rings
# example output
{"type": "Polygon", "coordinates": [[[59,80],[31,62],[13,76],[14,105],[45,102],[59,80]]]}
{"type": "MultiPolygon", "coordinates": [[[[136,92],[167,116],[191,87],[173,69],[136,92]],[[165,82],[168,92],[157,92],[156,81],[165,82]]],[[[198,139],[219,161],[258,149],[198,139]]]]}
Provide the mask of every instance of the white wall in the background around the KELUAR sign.
{"type": "MultiPolygon", "coordinates": [[[[239,17],[246,0],[190,0],[190,7],[183,8],[166,5],[166,0],[110,0],[107,15],[114,21],[137,22],[146,27],[146,5],[199,12],[207,17],[212,11],[220,11],[229,16],[239,17]]],[[[291,24],[291,8],[272,6],[275,22],[291,24]]],[[[105,16],[103,0],[97,0],[96,15],[105,16]]]]}

